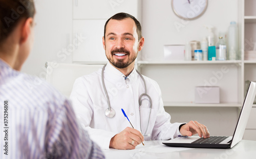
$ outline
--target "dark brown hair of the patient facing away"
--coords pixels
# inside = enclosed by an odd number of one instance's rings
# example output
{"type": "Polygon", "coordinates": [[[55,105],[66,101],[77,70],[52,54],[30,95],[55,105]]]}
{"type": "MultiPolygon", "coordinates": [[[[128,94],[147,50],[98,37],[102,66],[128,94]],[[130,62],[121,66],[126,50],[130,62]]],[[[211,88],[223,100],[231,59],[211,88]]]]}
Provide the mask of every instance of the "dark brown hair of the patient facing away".
{"type": "Polygon", "coordinates": [[[20,19],[34,15],[33,0],[0,0],[0,44],[11,34],[20,19]]]}

